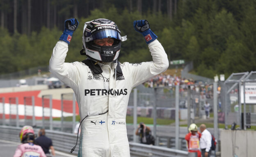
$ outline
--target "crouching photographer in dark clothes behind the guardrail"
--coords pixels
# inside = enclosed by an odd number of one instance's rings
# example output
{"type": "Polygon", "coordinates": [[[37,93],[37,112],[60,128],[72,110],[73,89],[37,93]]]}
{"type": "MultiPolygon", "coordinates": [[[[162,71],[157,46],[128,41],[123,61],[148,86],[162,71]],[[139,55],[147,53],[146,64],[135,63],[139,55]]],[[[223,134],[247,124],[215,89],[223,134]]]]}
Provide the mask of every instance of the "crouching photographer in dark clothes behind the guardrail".
{"type": "Polygon", "coordinates": [[[137,128],[135,134],[139,135],[141,144],[155,145],[155,138],[151,135],[150,128],[146,126],[143,122],[139,124],[139,127],[137,128]]]}

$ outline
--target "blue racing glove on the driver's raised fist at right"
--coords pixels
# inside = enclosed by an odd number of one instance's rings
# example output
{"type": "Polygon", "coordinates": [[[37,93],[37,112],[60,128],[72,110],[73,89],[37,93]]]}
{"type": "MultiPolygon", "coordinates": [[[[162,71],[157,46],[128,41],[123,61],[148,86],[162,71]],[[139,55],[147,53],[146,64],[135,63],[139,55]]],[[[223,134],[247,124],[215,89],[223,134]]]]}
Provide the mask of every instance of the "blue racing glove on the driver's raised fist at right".
{"type": "Polygon", "coordinates": [[[135,28],[135,31],[142,33],[147,44],[153,42],[157,38],[155,33],[151,31],[147,20],[136,20],[133,22],[133,27],[135,28]]]}

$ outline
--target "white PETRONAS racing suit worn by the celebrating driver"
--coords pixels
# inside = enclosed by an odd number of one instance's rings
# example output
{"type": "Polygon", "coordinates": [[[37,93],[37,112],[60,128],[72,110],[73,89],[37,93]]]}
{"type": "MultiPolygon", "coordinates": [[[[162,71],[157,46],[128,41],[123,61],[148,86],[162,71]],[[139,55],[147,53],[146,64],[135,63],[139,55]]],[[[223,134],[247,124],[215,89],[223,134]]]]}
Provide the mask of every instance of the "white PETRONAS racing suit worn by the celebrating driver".
{"type": "Polygon", "coordinates": [[[68,44],[57,42],[49,69],[76,95],[81,124],[80,157],[130,157],[126,111],[132,89],[164,72],[169,61],[158,40],[149,43],[151,62],[120,64],[123,76],[115,80],[116,64],[98,63],[103,72],[94,74],[83,62],[64,63],[68,44]],[[107,113],[105,113],[108,110],[107,113]],[[102,115],[98,115],[105,113],[102,115]]]}

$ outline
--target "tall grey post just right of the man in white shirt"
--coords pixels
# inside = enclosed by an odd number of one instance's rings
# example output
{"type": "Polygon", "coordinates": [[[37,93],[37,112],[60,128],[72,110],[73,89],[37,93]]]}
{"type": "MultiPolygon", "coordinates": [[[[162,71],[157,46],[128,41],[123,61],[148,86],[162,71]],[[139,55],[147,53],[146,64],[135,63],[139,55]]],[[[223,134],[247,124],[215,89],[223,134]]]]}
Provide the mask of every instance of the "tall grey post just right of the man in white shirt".
{"type": "MultiPolygon", "coordinates": [[[[214,136],[219,140],[219,129],[218,129],[218,97],[217,97],[217,82],[213,83],[213,117],[214,117],[214,136]]],[[[218,143],[217,143],[218,144],[218,143]]],[[[216,146],[215,152],[218,151],[218,146],[216,146]]]]}

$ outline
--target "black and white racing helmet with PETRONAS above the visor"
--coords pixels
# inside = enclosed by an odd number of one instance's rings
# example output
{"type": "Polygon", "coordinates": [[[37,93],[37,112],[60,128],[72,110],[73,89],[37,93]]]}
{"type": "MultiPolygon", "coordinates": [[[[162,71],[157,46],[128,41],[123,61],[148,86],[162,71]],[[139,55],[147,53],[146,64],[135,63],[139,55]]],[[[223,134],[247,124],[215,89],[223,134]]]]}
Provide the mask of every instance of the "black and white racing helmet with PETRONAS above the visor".
{"type": "Polygon", "coordinates": [[[121,42],[127,40],[126,36],[121,36],[121,31],[117,24],[107,19],[96,19],[85,22],[83,31],[83,51],[81,55],[102,62],[112,62],[117,60],[121,49],[121,42]],[[94,43],[96,39],[113,38],[112,46],[100,46],[94,43]]]}

